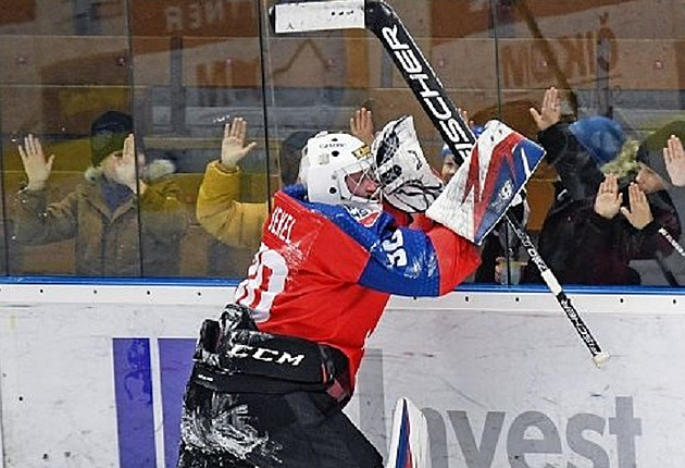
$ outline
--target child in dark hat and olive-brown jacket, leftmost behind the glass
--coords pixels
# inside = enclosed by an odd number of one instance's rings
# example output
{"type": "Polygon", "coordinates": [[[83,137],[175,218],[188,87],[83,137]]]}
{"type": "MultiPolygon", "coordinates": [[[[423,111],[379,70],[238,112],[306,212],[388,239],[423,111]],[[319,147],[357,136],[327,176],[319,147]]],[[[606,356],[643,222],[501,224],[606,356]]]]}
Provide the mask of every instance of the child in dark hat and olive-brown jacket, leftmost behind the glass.
{"type": "Polygon", "coordinates": [[[16,241],[43,245],[74,238],[78,275],[177,275],[188,220],[179,188],[167,177],[174,168],[169,161],[145,167],[144,156],[135,156],[132,132],[128,114],[100,115],[90,128],[85,181],[53,204],[46,184],[54,156],[46,159],[39,139],[28,135],[18,147],[28,184],[16,197],[16,241]]]}

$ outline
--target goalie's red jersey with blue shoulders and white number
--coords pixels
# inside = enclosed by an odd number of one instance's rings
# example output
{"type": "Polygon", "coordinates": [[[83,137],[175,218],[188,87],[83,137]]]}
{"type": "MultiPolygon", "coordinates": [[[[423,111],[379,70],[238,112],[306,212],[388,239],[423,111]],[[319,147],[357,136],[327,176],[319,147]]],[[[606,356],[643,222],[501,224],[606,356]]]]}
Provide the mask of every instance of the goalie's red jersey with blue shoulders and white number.
{"type": "Polygon", "coordinates": [[[312,204],[299,185],[276,193],[262,245],[235,301],[261,331],[334,346],[352,382],[390,294],[438,296],[471,274],[475,246],[436,224],[400,227],[382,210],[312,204]]]}

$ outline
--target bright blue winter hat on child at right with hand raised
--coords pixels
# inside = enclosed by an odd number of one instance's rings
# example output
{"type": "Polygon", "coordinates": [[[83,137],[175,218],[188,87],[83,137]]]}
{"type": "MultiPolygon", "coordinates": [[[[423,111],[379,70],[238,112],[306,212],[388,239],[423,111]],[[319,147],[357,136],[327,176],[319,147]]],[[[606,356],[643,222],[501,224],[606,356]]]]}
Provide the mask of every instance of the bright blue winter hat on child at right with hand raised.
{"type": "Polygon", "coordinates": [[[581,119],[571,124],[569,130],[598,165],[603,165],[619,156],[625,143],[621,124],[601,115],[581,119]]]}

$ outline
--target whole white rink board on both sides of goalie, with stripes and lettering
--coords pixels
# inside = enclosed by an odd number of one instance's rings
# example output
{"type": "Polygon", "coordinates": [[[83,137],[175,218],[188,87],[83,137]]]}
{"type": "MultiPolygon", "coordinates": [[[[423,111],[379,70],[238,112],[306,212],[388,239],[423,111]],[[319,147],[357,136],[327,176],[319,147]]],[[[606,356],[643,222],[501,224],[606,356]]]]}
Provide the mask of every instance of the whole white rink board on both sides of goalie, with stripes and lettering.
{"type": "MultiPolygon", "coordinates": [[[[3,468],[174,466],[195,334],[225,290],[184,304],[146,294],[0,296],[3,468]]],[[[680,466],[685,316],[674,303],[577,297],[613,356],[597,369],[549,295],[394,299],[347,412],[386,455],[395,401],[409,396],[428,419],[434,468],[680,466]]]]}

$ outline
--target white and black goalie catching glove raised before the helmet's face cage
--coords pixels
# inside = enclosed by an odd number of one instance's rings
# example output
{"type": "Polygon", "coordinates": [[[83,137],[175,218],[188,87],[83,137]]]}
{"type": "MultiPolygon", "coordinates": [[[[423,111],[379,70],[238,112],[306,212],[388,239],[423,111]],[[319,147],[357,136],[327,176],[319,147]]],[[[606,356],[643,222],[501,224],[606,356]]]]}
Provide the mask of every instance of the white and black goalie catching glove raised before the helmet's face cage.
{"type": "Polygon", "coordinates": [[[388,122],[371,145],[384,199],[407,213],[424,212],[443,190],[414,130],[414,119],[404,115],[388,122]]]}

